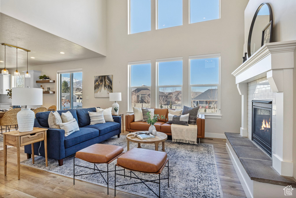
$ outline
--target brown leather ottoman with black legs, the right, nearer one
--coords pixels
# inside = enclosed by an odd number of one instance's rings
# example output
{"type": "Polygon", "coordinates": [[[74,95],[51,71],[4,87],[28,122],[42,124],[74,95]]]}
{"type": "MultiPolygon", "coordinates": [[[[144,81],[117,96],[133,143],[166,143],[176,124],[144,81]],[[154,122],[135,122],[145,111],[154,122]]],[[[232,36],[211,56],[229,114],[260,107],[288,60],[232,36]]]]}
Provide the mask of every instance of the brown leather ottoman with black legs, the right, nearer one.
{"type": "MultiPolygon", "coordinates": [[[[118,186],[126,186],[136,183],[143,183],[147,186],[157,197],[160,197],[160,180],[168,179],[168,187],[169,187],[169,166],[165,166],[168,163],[167,153],[161,151],[152,151],[148,149],[142,148],[133,148],[117,159],[117,164],[115,164],[115,195],[116,195],[116,187],[118,186]],[[116,166],[122,167],[124,169],[130,170],[130,176],[118,174],[116,171],[116,166]],[[163,171],[164,167],[168,167],[168,177],[167,178],[160,178],[160,174],[163,171]],[[157,174],[158,179],[154,180],[146,180],[139,178],[134,172],[142,172],[142,173],[150,173],[150,174],[157,174]],[[133,173],[133,176],[131,174],[133,173]],[[116,175],[138,179],[140,182],[136,183],[128,183],[116,186],[116,175]],[[156,194],[146,183],[152,182],[157,183],[159,186],[159,193],[156,194]]],[[[114,196],[115,196],[114,195],[114,196]]]]}

